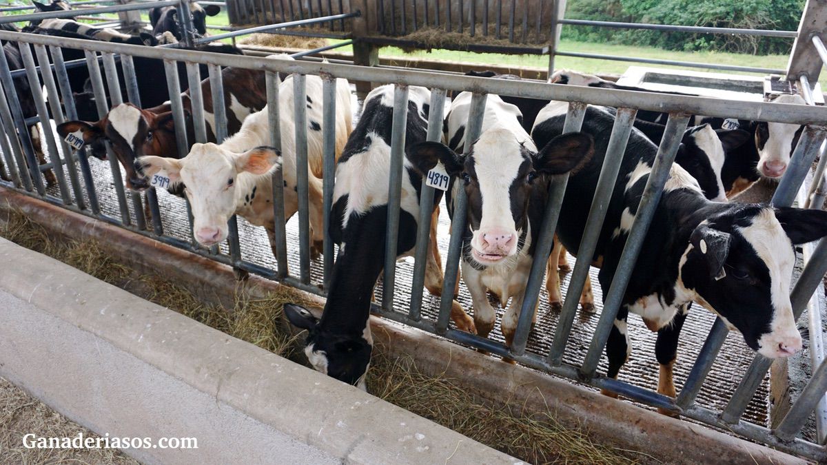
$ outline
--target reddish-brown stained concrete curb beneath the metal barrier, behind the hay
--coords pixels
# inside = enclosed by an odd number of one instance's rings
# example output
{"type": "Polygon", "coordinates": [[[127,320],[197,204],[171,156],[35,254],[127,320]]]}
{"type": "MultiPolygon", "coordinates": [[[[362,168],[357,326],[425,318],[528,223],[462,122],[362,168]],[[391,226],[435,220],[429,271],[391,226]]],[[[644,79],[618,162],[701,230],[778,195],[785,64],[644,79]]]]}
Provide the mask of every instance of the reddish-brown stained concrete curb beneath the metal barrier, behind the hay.
{"type": "MultiPolygon", "coordinates": [[[[56,235],[96,238],[103,247],[112,247],[109,252],[122,256],[123,251],[131,251],[129,259],[134,258],[141,271],[153,272],[155,266],[163,265],[171,279],[187,282],[191,290],[202,290],[199,296],[205,300],[220,301],[219,295],[237,289],[228,266],[0,188],[0,213],[8,211],[9,205],[56,235]]],[[[279,286],[251,276],[245,288],[252,295],[264,295],[279,286]]],[[[318,302],[323,304],[323,300],[318,302]]],[[[420,371],[453,378],[470,393],[495,402],[509,399],[528,411],[550,410],[559,423],[586,429],[595,442],[650,454],[657,458],[653,463],[805,463],[772,448],[500,362],[414,328],[373,317],[371,330],[378,347],[390,357],[413,357],[420,371]]]]}

